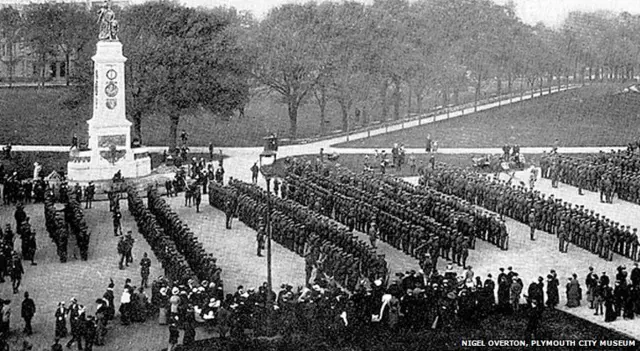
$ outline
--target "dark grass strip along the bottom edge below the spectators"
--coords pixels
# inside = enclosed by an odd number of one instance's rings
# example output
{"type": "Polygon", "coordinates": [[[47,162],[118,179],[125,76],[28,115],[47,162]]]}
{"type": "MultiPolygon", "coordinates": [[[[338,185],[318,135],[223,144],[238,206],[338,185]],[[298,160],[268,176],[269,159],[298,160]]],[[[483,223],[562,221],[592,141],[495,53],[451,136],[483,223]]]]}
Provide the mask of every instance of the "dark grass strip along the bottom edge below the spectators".
{"type": "MultiPolygon", "coordinates": [[[[490,340],[525,341],[527,318],[524,315],[492,315],[478,323],[461,321],[453,330],[421,330],[411,332],[399,330],[390,333],[383,330],[343,337],[339,333],[331,336],[296,335],[293,340],[248,340],[220,342],[217,339],[201,340],[191,347],[178,350],[471,350],[477,348],[461,346],[462,340],[483,340],[485,348],[490,340]]],[[[581,318],[558,310],[545,310],[540,321],[538,340],[633,340],[623,334],[592,324],[581,318]]],[[[526,341],[525,341],[526,342],[526,341]]],[[[638,341],[636,341],[636,345],[638,341]]],[[[487,349],[497,349],[488,347],[487,349]]],[[[523,347],[502,347],[501,350],[522,350],[523,347]]],[[[575,347],[540,348],[544,350],[570,350],[575,347]]],[[[595,347],[592,349],[612,349],[595,347]]],[[[634,347],[618,347],[618,350],[633,350],[634,347]]]]}

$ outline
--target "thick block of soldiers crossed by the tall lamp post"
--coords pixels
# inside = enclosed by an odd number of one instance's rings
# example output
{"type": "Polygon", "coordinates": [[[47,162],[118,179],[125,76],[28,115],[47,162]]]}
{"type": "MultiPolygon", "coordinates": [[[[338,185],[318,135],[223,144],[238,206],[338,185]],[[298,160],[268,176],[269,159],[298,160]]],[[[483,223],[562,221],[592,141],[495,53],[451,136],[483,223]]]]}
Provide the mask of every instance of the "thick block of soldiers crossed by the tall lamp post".
{"type": "Polygon", "coordinates": [[[360,277],[386,279],[388,272],[384,255],[377,255],[346,227],[325,216],[235,180],[227,187],[212,183],[210,192],[210,198],[228,199],[226,204],[213,200],[213,206],[225,209],[234,204],[239,219],[254,228],[258,237],[264,235],[266,216],[270,215],[272,238],[305,257],[309,284],[315,280],[312,272],[316,272],[316,277],[322,274],[332,276],[349,290],[355,287],[360,277]],[[267,213],[267,201],[270,201],[271,213],[267,213]]]}

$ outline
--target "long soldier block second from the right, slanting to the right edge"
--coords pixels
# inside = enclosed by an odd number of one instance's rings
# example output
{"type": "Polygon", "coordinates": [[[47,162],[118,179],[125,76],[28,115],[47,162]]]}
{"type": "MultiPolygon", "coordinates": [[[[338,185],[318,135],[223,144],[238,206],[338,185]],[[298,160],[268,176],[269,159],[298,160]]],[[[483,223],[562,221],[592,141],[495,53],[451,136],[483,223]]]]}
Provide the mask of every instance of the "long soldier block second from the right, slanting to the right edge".
{"type": "MultiPolygon", "coordinates": [[[[636,230],[584,206],[572,206],[553,196],[545,198],[539,191],[453,167],[438,167],[425,182],[437,190],[504,213],[534,229],[558,235],[561,242],[572,242],[602,258],[611,260],[612,254],[617,253],[638,259],[636,230]]],[[[561,243],[560,247],[561,251],[566,251],[566,243],[561,243]]]]}

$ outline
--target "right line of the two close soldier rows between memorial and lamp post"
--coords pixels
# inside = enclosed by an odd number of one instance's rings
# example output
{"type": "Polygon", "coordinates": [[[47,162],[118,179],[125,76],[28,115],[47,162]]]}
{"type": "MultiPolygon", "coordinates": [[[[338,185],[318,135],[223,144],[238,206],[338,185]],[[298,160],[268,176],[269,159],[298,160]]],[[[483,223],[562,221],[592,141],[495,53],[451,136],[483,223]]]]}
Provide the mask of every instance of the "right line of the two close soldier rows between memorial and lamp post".
{"type": "Polygon", "coordinates": [[[217,283],[221,273],[221,269],[216,265],[217,260],[206,252],[193,231],[171,210],[156,189],[149,189],[147,201],[157,223],[173,239],[198,278],[217,283]]]}

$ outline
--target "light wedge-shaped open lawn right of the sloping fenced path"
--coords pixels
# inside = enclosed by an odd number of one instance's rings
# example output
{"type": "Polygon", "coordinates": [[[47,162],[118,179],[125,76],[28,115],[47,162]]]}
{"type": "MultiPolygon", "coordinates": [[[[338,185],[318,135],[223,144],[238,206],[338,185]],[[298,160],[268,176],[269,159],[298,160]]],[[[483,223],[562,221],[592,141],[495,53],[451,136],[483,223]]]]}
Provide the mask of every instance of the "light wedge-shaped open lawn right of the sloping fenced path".
{"type": "MultiPolygon", "coordinates": [[[[628,84],[627,84],[628,85],[628,84]]],[[[625,85],[594,84],[468,116],[343,143],[340,147],[425,147],[427,134],[443,148],[622,146],[640,135],[640,94],[615,95],[625,85]]]]}

